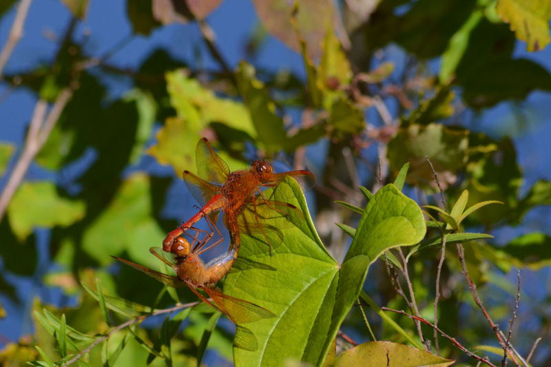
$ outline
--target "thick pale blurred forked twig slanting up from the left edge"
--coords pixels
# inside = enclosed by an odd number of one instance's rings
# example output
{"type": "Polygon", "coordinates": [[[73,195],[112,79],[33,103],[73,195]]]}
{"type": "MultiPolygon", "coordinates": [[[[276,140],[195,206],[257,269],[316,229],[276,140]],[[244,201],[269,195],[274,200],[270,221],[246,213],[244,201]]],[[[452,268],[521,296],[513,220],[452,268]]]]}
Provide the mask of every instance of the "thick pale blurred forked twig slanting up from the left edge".
{"type": "Polygon", "coordinates": [[[65,108],[65,105],[67,105],[67,102],[70,100],[72,92],[72,88],[70,87],[65,87],[65,89],[61,90],[59,96],[54,102],[54,105],[52,106],[52,109],[50,109],[50,112],[45,119],[44,114],[48,104],[42,99],[39,99],[37,104],[34,106],[34,112],[32,114],[29,131],[25,140],[23,153],[21,153],[12,174],[6,183],[6,187],[4,187],[0,195],[0,221],[6,213],[8,203],[12,199],[17,187],[19,187],[21,180],[23,180],[30,163],[34,159],[34,156],[37,155],[45,141],[48,139],[48,136],[59,119],[63,108],[65,108]]]}

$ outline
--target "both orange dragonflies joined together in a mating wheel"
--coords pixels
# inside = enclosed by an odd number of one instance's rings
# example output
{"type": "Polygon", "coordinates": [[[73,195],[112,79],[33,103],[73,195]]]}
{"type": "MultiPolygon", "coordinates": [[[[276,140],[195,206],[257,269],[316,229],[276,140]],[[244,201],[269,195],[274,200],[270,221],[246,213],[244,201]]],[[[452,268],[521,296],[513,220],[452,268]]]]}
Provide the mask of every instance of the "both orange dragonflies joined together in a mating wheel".
{"type": "Polygon", "coordinates": [[[304,170],[275,174],[267,160],[254,161],[249,170],[230,172],[227,163],[214,152],[205,138],[199,140],[197,145],[196,165],[197,175],[184,171],[183,178],[187,188],[202,207],[195,216],[167,235],[163,241],[163,249],[149,249],[153,255],[171,266],[177,277],[115,258],[167,286],[189,286],[203,302],[222,311],[236,324],[273,317],[273,313],[265,308],[225,295],[215,284],[227,274],[238,256],[241,245],[240,233],[261,234],[269,246],[271,255],[272,248],[266,232],[274,227],[274,218],[280,219],[277,220],[278,230],[292,226],[296,218],[304,218],[302,211],[294,205],[264,197],[262,187],[277,187],[282,180],[291,176],[302,189],[306,189],[314,184],[315,177],[311,172],[304,170]],[[199,255],[223,240],[216,227],[220,211],[224,212],[223,223],[229,232],[229,249],[227,253],[204,264],[199,255]],[[193,227],[202,218],[207,221],[210,231],[193,227]],[[194,233],[190,233],[191,231],[194,233]],[[218,240],[207,246],[215,231],[218,240]],[[183,235],[187,235],[191,242],[183,235]],[[205,291],[212,302],[198,289],[205,291]]]}

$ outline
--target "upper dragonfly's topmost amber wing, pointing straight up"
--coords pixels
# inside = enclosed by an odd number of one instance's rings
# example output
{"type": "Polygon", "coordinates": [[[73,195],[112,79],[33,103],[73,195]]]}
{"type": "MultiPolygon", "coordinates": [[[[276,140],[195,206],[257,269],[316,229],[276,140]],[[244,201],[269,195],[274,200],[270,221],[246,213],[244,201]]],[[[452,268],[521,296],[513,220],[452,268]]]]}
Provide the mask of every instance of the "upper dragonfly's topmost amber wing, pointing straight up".
{"type": "Polygon", "coordinates": [[[195,162],[197,175],[208,182],[222,185],[229,175],[227,163],[215,153],[206,138],[202,138],[197,144],[195,162]]]}

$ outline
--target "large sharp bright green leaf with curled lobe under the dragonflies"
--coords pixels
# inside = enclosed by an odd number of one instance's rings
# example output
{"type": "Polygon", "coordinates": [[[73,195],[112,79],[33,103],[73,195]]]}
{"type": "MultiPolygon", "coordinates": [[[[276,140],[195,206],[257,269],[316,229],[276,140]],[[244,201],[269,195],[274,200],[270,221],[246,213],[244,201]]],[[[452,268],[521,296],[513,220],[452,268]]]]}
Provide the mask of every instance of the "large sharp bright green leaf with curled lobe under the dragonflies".
{"type": "Polygon", "coordinates": [[[280,233],[267,233],[275,253],[272,257],[262,238],[242,234],[240,257],[226,277],[225,293],[277,315],[247,324],[258,339],[258,348],[234,348],[238,366],[280,366],[287,357],[322,364],[360,294],[368,266],[386,249],[415,244],[425,233],[421,209],[394,185],[387,185],[367,205],[349,253],[339,266],[315,232],[300,187],[288,179],[273,192],[273,198],[290,197],[289,202],[305,213],[306,220],[280,233]]]}

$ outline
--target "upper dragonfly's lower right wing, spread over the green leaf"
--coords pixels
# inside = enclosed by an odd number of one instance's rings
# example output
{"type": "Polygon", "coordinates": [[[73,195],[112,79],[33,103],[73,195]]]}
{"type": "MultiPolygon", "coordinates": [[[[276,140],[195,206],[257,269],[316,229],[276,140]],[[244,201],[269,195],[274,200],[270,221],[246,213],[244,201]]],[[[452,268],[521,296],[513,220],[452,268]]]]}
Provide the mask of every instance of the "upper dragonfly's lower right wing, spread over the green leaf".
{"type": "Polygon", "coordinates": [[[287,229],[303,222],[304,213],[294,205],[276,200],[264,201],[262,196],[247,200],[238,216],[239,230],[245,233],[287,229]]]}

